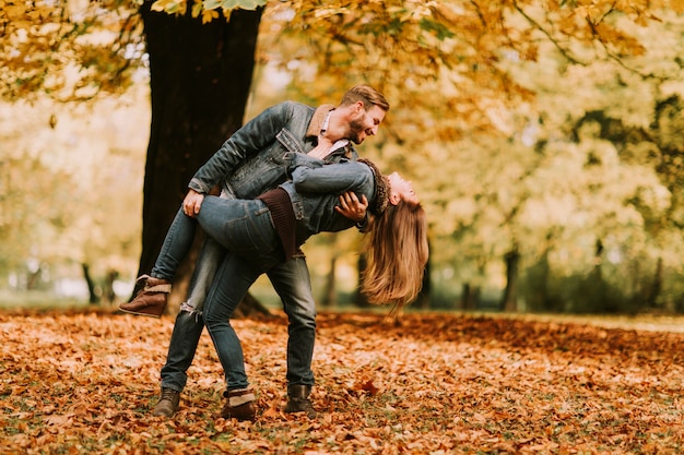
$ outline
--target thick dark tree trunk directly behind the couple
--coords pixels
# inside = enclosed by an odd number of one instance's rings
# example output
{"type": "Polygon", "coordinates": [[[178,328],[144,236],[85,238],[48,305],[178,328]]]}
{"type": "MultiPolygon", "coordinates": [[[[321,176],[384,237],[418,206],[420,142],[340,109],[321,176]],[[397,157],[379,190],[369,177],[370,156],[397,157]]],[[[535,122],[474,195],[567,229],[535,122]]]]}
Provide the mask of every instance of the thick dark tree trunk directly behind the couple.
{"type": "MultiPolygon", "coordinates": [[[[229,22],[202,24],[189,13],[174,16],[150,7],[145,1],[140,9],[152,124],[139,275],[152,270],[192,175],[243,123],[262,11],[236,10],[229,22]]],[[[187,289],[198,247],[199,241],[176,274],[177,290],[187,289]]]]}

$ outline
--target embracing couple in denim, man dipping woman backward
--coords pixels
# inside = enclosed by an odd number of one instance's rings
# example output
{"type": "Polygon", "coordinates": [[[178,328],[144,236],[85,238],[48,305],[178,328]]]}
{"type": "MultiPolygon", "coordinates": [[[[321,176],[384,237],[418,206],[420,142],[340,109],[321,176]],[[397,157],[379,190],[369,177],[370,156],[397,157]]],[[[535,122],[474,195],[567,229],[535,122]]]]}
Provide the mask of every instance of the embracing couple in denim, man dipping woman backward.
{"type": "Polygon", "coordinates": [[[424,213],[410,183],[398,175],[385,178],[368,161],[353,163],[356,152],[350,143],[374,135],[388,109],[381,94],[363,85],[347,91],[337,108],[276,105],[238,130],[196,173],[152,276],[133,301],[120,306],[161,315],[196,224],[207,230],[190,296],[176,318],[154,415],[169,417],[177,410],[205,322],[227,381],[222,417],[255,419],[255,395],[229,316],[266,272],[290,321],[285,411],[316,416],[308,398],[316,308],[299,251],[314,234],[370,224],[374,253],[364,291],[378,302],[403,303],[415,296],[427,260],[424,213]],[[204,196],[216,183],[222,183],[222,197],[204,196]],[[367,206],[373,219],[365,216],[367,206]],[[411,249],[414,254],[408,255],[411,249]]]}

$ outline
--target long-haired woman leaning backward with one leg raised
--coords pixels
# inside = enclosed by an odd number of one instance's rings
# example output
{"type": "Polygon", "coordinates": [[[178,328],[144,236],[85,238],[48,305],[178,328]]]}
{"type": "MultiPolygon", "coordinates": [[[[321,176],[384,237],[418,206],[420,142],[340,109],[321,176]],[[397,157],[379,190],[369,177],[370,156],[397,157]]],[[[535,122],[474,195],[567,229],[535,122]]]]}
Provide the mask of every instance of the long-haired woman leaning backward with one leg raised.
{"type": "MultiPolygon", "coordinates": [[[[216,276],[232,276],[239,283],[229,294],[211,292],[203,311],[228,383],[224,418],[252,420],[255,416],[255,397],[231,315],[259,275],[290,259],[310,236],[353,226],[334,208],[338,194],[353,191],[369,202],[369,264],[362,285],[368,301],[394,306],[410,302],[421,289],[427,262],[425,213],[411,183],[398,173],[384,177],[366,160],[325,165],[296,153],[285,159],[291,181],[257,200],[205,196],[196,216],[210,237],[234,253],[216,276]]],[[[192,243],[196,225],[194,219],[178,213],[152,277],[146,277],[148,286],[131,303],[170,291],[170,280],[192,243]]]]}

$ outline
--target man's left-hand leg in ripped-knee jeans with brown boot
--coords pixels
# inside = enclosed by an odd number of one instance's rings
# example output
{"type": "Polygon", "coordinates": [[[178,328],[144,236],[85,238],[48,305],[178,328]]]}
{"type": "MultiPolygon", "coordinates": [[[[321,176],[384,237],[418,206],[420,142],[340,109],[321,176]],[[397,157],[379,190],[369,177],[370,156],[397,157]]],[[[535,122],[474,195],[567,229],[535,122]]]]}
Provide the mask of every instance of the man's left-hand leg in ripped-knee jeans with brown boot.
{"type": "Polygon", "coordinates": [[[188,380],[187,371],[204,328],[202,306],[225,253],[225,249],[212,239],[207,239],[202,246],[189,297],[176,316],[166,363],[162,367],[162,396],[152,411],[155,416],[170,417],[178,409],[180,392],[188,380]]]}

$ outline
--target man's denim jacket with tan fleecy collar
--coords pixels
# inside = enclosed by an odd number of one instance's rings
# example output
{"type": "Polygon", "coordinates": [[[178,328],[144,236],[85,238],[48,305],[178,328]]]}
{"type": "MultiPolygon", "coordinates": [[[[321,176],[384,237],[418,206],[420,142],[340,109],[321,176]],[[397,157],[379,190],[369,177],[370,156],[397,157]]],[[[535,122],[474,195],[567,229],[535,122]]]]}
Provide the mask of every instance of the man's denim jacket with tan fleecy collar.
{"type": "MultiPolygon", "coordinates": [[[[284,101],[272,106],[237,130],[194,173],[188,187],[209,193],[222,183],[223,196],[252,199],[286,180],[285,154],[306,154],[316,146],[326,115],[318,109],[284,101]]],[[[326,157],[326,163],[356,160],[351,143],[326,157]]],[[[322,161],[321,161],[322,163],[322,161]]]]}

